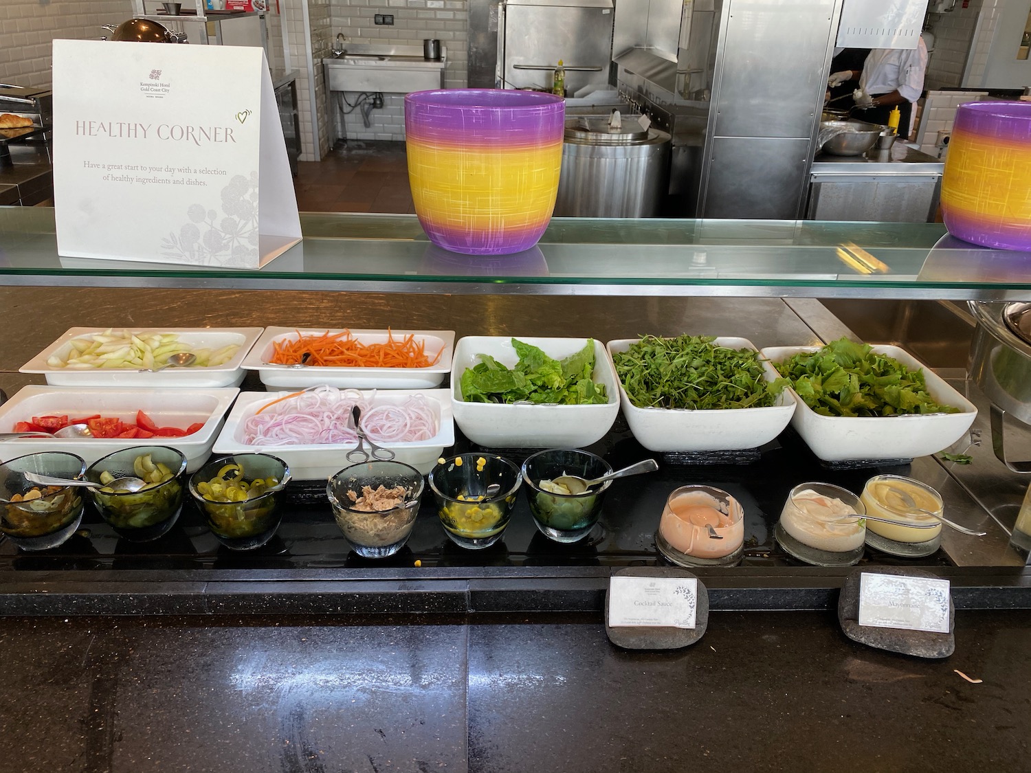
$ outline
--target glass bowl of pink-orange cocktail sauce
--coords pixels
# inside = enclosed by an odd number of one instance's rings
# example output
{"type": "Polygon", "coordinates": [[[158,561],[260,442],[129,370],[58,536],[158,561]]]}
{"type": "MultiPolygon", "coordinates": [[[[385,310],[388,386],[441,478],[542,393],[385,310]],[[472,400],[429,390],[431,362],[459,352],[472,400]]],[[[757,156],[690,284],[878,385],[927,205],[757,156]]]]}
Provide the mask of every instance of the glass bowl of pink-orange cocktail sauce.
{"type": "Polygon", "coordinates": [[[744,510],[721,489],[681,485],[666,499],[655,542],[680,566],[733,566],[744,553],[744,510]]]}

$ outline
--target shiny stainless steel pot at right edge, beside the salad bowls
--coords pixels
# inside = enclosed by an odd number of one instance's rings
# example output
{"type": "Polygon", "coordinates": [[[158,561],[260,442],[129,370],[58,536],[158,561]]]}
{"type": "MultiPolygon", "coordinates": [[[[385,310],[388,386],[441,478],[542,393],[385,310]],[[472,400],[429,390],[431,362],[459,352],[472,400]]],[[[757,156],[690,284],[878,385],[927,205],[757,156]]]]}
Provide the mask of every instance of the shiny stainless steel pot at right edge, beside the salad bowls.
{"type": "Polygon", "coordinates": [[[1031,462],[1006,457],[1008,413],[1031,424],[1031,303],[971,301],[977,321],[967,371],[992,401],[992,447],[1013,472],[1031,472],[1031,462]]]}

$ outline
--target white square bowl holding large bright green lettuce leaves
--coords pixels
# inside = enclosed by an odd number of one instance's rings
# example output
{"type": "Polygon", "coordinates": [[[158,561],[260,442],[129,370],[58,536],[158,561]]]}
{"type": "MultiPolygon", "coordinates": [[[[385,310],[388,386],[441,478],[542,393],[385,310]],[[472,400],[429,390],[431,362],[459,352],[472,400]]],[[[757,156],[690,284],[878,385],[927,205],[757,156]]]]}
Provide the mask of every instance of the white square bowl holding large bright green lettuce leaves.
{"type": "MultiPolygon", "coordinates": [[[[514,336],[561,360],[584,348],[587,338],[534,338],[514,336]]],[[[455,423],[472,442],[488,448],[580,448],[601,440],[620,412],[620,392],[612,363],[604,345],[594,341],[594,380],[605,385],[604,405],[504,405],[467,403],[461,379],[466,368],[490,355],[507,368],[519,362],[512,336],[466,336],[455,346],[452,364],[452,409],[455,423]]]]}

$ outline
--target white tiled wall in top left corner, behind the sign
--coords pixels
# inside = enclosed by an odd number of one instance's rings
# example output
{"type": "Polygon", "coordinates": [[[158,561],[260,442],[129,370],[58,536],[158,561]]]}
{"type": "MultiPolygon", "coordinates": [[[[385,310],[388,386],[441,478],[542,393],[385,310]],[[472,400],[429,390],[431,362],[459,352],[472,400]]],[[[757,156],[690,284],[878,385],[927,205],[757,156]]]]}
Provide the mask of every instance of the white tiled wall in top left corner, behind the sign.
{"type": "Polygon", "coordinates": [[[0,0],[0,81],[47,86],[55,38],[97,39],[131,18],[131,0],[0,0]]]}

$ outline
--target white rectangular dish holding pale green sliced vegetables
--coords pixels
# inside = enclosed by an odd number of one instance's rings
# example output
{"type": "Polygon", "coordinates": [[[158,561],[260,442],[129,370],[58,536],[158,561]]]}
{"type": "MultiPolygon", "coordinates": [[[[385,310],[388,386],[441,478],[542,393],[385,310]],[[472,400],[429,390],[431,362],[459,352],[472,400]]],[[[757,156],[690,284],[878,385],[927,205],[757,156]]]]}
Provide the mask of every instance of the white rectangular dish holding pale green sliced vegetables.
{"type": "Polygon", "coordinates": [[[47,360],[57,355],[66,357],[71,349],[71,341],[94,333],[103,333],[102,328],[71,328],[58,340],[40,351],[19,368],[22,373],[42,373],[46,383],[55,386],[174,386],[211,389],[218,386],[238,386],[246,374],[243,359],[261,335],[263,328],[115,328],[114,332],[127,330],[130,333],[175,333],[179,340],[193,348],[222,348],[231,343],[239,344],[233,358],[223,365],[199,368],[165,368],[157,373],[140,373],[135,368],[54,368],[47,360]]]}

